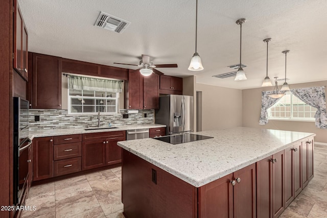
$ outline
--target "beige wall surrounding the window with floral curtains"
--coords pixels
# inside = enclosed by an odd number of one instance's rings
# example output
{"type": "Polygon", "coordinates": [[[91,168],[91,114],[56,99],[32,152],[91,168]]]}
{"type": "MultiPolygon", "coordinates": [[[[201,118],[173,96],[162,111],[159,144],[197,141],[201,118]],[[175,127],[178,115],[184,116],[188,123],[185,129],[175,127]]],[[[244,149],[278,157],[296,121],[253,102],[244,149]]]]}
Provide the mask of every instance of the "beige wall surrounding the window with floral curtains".
{"type": "MultiPolygon", "coordinates": [[[[305,88],[314,86],[326,86],[327,81],[290,84],[290,88],[305,88]]],[[[262,126],[259,125],[259,117],[261,112],[261,92],[272,90],[273,87],[254,88],[243,90],[243,126],[264,129],[289,130],[298,132],[316,133],[315,141],[327,143],[327,130],[315,127],[314,122],[297,122],[269,120],[269,123],[262,126]]]]}

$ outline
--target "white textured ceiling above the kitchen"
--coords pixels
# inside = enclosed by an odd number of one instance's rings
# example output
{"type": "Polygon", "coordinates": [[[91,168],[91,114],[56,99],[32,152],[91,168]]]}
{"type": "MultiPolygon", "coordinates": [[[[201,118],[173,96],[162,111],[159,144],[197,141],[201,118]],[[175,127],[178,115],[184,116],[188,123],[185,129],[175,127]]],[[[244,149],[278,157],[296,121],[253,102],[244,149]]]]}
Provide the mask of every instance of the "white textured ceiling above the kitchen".
{"type": "MultiPolygon", "coordinates": [[[[196,75],[198,83],[247,89],[260,87],[266,76],[284,78],[284,50],[288,83],[327,80],[326,0],[199,0],[198,53],[204,70],[189,71],[195,52],[195,0],[19,0],[29,33],[29,51],[64,58],[136,69],[142,54],[166,75],[196,75]],[[95,27],[100,11],[130,21],[122,33],[95,27]],[[232,71],[239,62],[242,26],[242,63],[248,80],[212,76],[232,71]]],[[[282,84],[282,82],[279,82],[282,84]]]]}

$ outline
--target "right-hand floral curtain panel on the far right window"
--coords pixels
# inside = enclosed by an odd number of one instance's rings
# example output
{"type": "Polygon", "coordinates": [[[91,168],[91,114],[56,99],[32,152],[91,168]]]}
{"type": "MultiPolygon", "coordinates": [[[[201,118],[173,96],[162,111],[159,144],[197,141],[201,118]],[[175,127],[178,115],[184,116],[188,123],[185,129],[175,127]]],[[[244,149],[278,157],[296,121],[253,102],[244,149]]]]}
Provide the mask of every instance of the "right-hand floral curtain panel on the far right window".
{"type": "Polygon", "coordinates": [[[325,87],[297,88],[291,89],[291,92],[301,101],[317,108],[315,126],[320,129],[327,129],[325,87]]]}

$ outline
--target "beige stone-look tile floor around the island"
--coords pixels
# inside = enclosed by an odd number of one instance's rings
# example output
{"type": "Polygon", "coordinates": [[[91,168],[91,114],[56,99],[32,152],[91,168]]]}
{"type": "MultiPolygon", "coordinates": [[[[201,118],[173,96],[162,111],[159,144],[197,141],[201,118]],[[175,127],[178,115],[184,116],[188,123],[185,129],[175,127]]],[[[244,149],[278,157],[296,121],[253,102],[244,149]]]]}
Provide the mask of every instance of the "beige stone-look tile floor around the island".
{"type": "MultiPolygon", "coordinates": [[[[279,217],[327,217],[327,146],[315,145],[315,176],[279,217]]],[[[121,167],[31,188],[22,217],[123,218],[121,167]]]]}

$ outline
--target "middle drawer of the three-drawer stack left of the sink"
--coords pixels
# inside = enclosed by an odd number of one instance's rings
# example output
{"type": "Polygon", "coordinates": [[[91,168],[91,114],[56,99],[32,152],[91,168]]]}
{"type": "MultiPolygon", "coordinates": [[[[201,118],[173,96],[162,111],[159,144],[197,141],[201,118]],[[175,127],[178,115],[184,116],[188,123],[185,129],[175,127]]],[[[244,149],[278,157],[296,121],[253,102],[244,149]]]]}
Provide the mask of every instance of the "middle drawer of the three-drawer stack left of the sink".
{"type": "Polygon", "coordinates": [[[82,142],[56,144],[53,147],[53,160],[82,156],[82,142]]]}

